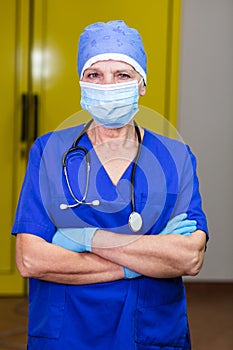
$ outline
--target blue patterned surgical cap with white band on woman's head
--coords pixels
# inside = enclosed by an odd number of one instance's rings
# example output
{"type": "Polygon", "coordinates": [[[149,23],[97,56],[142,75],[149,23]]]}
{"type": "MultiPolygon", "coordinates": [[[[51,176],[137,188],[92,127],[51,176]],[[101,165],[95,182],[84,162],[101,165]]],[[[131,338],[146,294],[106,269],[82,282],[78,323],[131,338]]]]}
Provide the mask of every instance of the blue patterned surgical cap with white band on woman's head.
{"type": "Polygon", "coordinates": [[[80,35],[78,46],[78,74],[93,63],[117,60],[130,64],[146,83],[146,54],[140,34],[124,21],[97,22],[87,26],[80,35]]]}

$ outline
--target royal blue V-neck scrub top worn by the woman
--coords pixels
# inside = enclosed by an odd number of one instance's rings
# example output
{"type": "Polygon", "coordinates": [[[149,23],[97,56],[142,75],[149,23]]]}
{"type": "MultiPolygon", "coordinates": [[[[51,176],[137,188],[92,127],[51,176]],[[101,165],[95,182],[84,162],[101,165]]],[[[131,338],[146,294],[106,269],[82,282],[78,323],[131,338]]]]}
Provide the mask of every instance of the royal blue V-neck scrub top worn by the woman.
{"type": "MultiPolygon", "coordinates": [[[[38,138],[33,145],[12,233],[52,241],[57,227],[94,226],[132,234],[130,186],[133,162],[114,186],[85,134],[79,145],[91,159],[87,201],[74,203],[62,171],[62,155],[83,126],[38,138]]],[[[67,158],[70,184],[82,198],[86,181],[82,151],[67,158]]],[[[135,175],[136,210],[143,217],[139,234],[158,234],[168,220],[186,212],[207,233],[196,175],[196,161],[181,142],[145,130],[135,175]]],[[[185,291],[181,278],[140,277],[71,286],[30,279],[28,348],[37,350],[189,349],[185,291]]]]}

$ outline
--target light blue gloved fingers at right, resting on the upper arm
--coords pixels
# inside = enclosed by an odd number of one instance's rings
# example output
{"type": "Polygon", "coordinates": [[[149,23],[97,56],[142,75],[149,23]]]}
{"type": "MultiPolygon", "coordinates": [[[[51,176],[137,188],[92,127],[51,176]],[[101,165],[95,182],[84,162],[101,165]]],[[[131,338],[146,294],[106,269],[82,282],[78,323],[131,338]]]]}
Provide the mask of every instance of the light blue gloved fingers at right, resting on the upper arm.
{"type": "Polygon", "coordinates": [[[186,220],[187,216],[186,213],[175,216],[168,221],[167,225],[159,234],[179,234],[189,236],[190,233],[196,231],[197,222],[196,220],[186,220]]]}

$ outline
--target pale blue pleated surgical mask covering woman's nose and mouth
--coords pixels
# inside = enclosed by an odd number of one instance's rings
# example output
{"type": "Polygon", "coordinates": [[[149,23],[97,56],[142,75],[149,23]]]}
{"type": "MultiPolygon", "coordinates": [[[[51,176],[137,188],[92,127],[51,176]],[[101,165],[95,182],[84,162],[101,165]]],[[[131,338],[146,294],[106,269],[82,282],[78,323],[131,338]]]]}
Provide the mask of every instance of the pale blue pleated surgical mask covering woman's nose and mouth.
{"type": "Polygon", "coordinates": [[[138,111],[137,80],[118,84],[80,81],[80,87],[82,108],[106,128],[120,128],[128,124],[138,111]]]}

